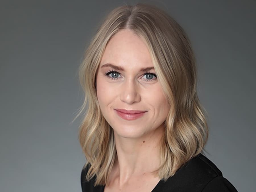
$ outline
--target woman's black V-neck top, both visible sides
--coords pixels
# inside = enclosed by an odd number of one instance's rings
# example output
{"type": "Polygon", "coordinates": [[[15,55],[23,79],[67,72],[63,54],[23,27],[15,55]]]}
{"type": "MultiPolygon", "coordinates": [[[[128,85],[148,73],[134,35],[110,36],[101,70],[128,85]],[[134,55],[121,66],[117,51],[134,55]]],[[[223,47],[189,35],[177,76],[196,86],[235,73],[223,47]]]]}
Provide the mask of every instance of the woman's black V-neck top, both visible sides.
{"type": "MultiPolygon", "coordinates": [[[[104,186],[94,187],[95,177],[85,181],[90,165],[81,172],[82,192],[103,192],[104,186]]],[[[160,180],[152,192],[237,192],[222,176],[222,172],[203,154],[199,154],[183,165],[166,182],[160,180]]]]}

